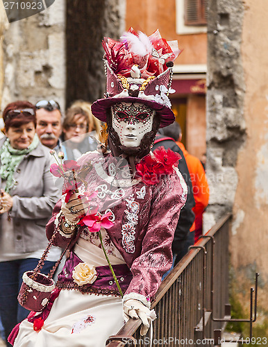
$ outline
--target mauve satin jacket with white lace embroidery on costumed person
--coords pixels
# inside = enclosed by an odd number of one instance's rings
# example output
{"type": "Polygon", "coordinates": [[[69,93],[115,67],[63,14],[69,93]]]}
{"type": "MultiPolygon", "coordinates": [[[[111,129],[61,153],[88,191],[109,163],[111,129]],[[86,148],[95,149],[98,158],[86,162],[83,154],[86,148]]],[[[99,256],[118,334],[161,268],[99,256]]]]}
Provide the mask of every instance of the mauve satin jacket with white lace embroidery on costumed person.
{"type": "MultiPolygon", "coordinates": [[[[90,160],[96,166],[103,161],[103,155],[96,154],[96,152],[94,154],[86,153],[78,160],[78,163],[83,166],[90,160]]],[[[85,178],[89,183],[87,189],[99,192],[97,202],[103,206],[101,213],[110,208],[115,215],[114,226],[106,231],[133,273],[133,279],[125,294],[141,294],[151,301],[160,286],[162,275],[171,266],[171,244],[180,210],[186,201],[187,187],[181,174],[177,174],[174,170],[174,173],[163,178],[157,185],[145,185],[143,182],[139,182],[124,188],[124,197],[116,200],[111,193],[105,193],[112,187],[107,182],[110,178],[103,172],[108,172],[108,167],[112,162],[115,162],[115,158],[107,155],[105,162],[99,164],[102,168],[107,169],[106,171],[97,169],[97,174],[96,167],[94,167],[87,174],[85,178]],[[102,199],[99,198],[101,194],[102,199]],[[129,226],[128,222],[131,223],[132,240],[131,237],[128,237],[130,234],[127,233],[129,231],[126,228],[129,226]]],[[[115,193],[116,189],[118,187],[114,187],[112,192],[115,193]]],[[[61,201],[58,201],[53,210],[53,217],[47,224],[49,239],[56,228],[54,221],[60,211],[60,206],[61,201]]],[[[70,248],[76,243],[79,231],[83,228],[85,227],[78,228],[70,248]]],[[[69,239],[62,237],[57,232],[54,243],[56,246],[65,248],[68,242],[69,239]]]]}

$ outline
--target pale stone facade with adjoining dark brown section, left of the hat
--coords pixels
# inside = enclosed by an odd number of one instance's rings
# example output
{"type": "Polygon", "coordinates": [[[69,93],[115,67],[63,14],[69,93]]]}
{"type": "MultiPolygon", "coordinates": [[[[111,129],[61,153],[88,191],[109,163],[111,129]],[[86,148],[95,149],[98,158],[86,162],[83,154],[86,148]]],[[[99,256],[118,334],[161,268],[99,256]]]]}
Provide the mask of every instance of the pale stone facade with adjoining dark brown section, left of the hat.
{"type": "Polygon", "coordinates": [[[56,0],[46,10],[10,24],[2,6],[1,110],[18,99],[55,99],[65,110],[75,99],[103,96],[101,40],[124,31],[124,4],[56,0]]]}

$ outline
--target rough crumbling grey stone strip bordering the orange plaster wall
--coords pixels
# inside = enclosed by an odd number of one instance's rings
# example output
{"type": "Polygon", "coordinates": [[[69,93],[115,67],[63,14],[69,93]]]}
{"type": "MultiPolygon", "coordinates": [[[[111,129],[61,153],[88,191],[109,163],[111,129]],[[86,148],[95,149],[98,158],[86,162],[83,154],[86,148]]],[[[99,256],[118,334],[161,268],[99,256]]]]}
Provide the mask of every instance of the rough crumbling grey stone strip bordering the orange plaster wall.
{"type": "Polygon", "coordinates": [[[210,205],[204,215],[206,230],[224,212],[233,210],[237,153],[246,139],[243,15],[240,0],[209,1],[206,138],[210,205]]]}

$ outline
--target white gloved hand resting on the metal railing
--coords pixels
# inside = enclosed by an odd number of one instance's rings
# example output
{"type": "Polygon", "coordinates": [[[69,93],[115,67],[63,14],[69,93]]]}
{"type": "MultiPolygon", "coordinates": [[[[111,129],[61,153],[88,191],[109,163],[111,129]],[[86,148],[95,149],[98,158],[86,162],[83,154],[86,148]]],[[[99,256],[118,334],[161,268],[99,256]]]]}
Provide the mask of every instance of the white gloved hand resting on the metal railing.
{"type": "Polygon", "coordinates": [[[135,299],[128,299],[123,304],[124,313],[133,319],[142,321],[142,327],[140,328],[140,335],[146,335],[149,330],[151,321],[156,319],[156,312],[149,310],[141,301],[135,299]]]}

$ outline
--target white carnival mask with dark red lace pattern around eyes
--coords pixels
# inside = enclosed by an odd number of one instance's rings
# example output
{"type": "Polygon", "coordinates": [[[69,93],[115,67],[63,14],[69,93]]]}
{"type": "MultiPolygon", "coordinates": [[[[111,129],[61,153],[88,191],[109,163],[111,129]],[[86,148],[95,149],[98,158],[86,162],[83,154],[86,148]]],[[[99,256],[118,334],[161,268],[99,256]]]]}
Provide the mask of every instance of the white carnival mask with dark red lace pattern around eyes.
{"type": "Polygon", "coordinates": [[[153,128],[154,110],[142,103],[112,105],[112,128],[126,147],[140,146],[142,137],[153,128]]]}

